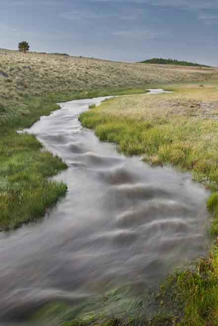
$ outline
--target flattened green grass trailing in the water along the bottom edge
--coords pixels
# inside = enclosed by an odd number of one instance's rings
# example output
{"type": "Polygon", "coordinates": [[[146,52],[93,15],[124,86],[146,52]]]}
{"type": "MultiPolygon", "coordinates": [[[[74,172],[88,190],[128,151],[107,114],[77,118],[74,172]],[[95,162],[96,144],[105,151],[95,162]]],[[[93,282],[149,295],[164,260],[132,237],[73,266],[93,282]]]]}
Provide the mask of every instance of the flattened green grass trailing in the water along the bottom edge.
{"type": "MultiPolygon", "coordinates": [[[[174,278],[168,282],[173,284],[174,278]]],[[[177,302],[174,285],[170,296],[166,286],[155,292],[145,290],[137,298],[131,293],[131,285],[126,285],[105,292],[103,297],[83,298],[79,303],[48,303],[30,316],[30,321],[42,326],[173,326],[181,318],[181,313],[175,314],[175,306],[182,306],[177,302]]]]}

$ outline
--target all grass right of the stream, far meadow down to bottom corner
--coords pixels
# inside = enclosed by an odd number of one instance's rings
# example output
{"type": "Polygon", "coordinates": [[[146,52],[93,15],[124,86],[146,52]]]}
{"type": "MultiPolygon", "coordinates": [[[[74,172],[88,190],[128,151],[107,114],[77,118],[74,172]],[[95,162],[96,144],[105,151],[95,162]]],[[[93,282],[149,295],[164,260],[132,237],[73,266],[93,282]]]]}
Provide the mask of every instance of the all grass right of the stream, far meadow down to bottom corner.
{"type": "Polygon", "coordinates": [[[217,326],[218,90],[214,86],[173,90],[112,98],[82,113],[80,120],[93,128],[100,140],[115,142],[119,151],[144,155],[144,160],[154,165],[173,164],[189,170],[211,188],[207,206],[214,215],[211,232],[215,244],[194,270],[176,275],[174,286],[185,307],[176,325],[217,326]]]}

